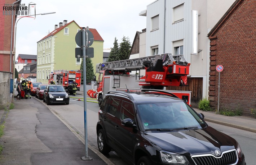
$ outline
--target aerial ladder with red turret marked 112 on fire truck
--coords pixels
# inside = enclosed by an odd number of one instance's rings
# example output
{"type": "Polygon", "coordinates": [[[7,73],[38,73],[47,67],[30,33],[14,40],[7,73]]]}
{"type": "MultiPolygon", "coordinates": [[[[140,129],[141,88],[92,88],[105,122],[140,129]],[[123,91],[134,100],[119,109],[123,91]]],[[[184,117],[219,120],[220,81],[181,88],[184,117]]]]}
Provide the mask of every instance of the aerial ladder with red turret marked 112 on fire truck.
{"type": "Polygon", "coordinates": [[[146,69],[145,76],[138,76],[139,85],[142,88],[162,89],[164,86],[186,85],[189,66],[183,55],[161,54],[101,63],[96,66],[96,72],[111,70],[109,72],[113,74],[124,74],[131,70],[137,73],[137,70],[146,69]]]}

